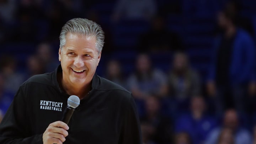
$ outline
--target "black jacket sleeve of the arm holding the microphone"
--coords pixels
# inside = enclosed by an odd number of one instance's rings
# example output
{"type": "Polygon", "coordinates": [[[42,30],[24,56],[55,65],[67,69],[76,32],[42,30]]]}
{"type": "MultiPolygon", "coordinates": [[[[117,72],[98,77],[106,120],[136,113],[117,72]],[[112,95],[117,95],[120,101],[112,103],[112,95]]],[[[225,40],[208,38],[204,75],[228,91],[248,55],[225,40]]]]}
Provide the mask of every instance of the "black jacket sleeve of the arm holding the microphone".
{"type": "Polygon", "coordinates": [[[0,123],[1,144],[42,144],[43,134],[32,135],[28,122],[28,103],[22,88],[17,91],[14,100],[0,123]]]}

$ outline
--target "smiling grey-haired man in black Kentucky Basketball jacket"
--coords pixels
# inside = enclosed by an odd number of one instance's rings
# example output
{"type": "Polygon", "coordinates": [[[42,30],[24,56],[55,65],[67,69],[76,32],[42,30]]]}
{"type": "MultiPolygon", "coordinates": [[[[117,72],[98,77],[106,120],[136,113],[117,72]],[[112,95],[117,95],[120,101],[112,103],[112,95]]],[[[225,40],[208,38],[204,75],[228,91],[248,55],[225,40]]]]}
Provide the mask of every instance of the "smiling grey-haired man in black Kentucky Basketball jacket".
{"type": "Polygon", "coordinates": [[[95,73],[103,42],[95,22],[68,21],[60,33],[61,65],[20,86],[0,124],[0,143],[141,144],[132,94],[95,73]],[[59,120],[70,95],[80,105],[67,125],[59,120]]]}

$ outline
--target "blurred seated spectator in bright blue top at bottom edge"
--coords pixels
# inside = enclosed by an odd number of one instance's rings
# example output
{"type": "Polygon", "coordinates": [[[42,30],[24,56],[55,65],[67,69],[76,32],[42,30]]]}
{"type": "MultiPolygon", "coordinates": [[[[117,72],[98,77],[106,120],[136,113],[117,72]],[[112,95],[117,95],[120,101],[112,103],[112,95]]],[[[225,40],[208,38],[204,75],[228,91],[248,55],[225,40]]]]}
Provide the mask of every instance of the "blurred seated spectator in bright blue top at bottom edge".
{"type": "Polygon", "coordinates": [[[175,123],[176,132],[187,132],[194,144],[204,144],[215,126],[216,120],[206,113],[206,102],[200,96],[192,97],[190,112],[182,114],[175,123]]]}

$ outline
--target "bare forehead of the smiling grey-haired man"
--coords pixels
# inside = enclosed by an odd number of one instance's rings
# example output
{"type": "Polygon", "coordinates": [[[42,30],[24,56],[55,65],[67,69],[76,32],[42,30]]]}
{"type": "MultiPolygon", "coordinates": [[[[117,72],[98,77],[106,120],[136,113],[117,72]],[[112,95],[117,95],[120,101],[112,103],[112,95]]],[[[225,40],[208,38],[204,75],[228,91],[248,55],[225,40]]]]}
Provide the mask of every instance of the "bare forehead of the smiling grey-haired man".
{"type": "Polygon", "coordinates": [[[65,48],[72,49],[96,49],[95,36],[81,36],[80,34],[67,33],[65,48]]]}

